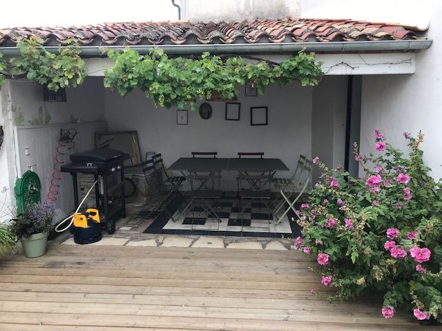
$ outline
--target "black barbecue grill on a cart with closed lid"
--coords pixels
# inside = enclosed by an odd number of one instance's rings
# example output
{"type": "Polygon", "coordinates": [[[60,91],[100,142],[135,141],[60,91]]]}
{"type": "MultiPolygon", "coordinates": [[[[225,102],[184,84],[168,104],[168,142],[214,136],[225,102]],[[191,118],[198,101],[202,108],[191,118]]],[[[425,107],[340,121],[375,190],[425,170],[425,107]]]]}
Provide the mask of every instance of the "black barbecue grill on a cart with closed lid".
{"type": "Polygon", "coordinates": [[[77,173],[93,174],[95,181],[95,203],[100,214],[100,223],[106,226],[109,234],[115,232],[115,220],[126,217],[126,199],[124,192],[124,161],[129,154],[111,148],[86,150],[70,155],[72,163],[61,165],[62,172],[70,172],[73,179],[75,209],[79,205],[77,173]],[[108,191],[121,188],[119,202],[108,197],[108,191]],[[119,208],[116,206],[119,205],[119,208]]]}

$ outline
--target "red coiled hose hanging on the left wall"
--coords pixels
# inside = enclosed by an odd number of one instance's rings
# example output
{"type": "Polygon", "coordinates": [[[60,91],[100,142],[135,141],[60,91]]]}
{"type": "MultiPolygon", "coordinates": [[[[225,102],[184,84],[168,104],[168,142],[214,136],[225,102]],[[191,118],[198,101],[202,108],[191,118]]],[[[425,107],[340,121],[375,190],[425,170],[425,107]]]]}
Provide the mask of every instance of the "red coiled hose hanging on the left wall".
{"type": "Polygon", "coordinates": [[[61,181],[61,165],[64,164],[63,158],[68,154],[76,153],[77,147],[75,147],[74,138],[77,135],[77,130],[70,128],[68,130],[60,129],[60,136],[57,139],[58,146],[55,149],[55,162],[52,170],[52,179],[50,180],[50,188],[48,195],[46,196],[46,202],[55,203],[59,194],[60,181],[61,181]]]}

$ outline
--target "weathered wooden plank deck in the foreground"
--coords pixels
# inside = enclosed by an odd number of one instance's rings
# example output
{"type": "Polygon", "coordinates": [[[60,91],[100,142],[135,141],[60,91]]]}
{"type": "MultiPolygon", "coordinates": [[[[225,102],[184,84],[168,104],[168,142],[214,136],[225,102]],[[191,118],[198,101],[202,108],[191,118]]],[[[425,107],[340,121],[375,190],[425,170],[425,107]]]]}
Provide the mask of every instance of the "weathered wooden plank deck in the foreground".
{"type": "Polygon", "coordinates": [[[0,330],[416,330],[332,303],[299,252],[51,245],[0,260],[0,330]]]}

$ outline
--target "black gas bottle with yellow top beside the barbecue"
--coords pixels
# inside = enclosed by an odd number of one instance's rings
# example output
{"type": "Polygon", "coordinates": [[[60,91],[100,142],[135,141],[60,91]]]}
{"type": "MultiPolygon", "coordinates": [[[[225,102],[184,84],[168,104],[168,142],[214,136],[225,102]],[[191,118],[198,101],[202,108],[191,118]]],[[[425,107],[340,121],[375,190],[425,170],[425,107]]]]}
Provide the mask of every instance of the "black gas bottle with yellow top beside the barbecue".
{"type": "Polygon", "coordinates": [[[102,240],[98,210],[88,208],[86,212],[76,212],[73,217],[73,230],[75,243],[95,243],[102,240]]]}

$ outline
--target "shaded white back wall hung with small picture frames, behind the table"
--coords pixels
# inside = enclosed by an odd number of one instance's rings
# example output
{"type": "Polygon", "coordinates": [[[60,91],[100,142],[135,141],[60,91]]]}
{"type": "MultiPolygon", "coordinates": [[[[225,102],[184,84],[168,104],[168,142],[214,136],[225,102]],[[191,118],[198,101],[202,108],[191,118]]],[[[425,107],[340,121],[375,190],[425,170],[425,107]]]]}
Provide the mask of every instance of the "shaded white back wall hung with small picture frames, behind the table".
{"type": "MultiPolygon", "coordinates": [[[[139,90],[126,98],[105,90],[106,119],[109,130],[137,130],[142,155],[161,152],[166,165],[189,157],[192,151],[216,151],[218,157],[265,152],[265,157],[278,157],[294,170],[299,154],[311,156],[311,88],[271,86],[258,97],[244,97],[244,87],[239,91],[240,121],[225,121],[225,103],[210,102],[211,119],[201,119],[198,112],[189,111],[189,125],[177,126],[174,108],[155,109],[139,90]],[[253,106],[268,107],[268,126],[250,126],[253,106]]],[[[235,177],[225,173],[224,188],[236,188],[235,177]]]]}

